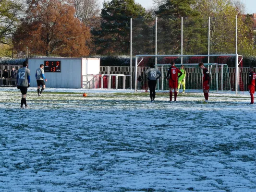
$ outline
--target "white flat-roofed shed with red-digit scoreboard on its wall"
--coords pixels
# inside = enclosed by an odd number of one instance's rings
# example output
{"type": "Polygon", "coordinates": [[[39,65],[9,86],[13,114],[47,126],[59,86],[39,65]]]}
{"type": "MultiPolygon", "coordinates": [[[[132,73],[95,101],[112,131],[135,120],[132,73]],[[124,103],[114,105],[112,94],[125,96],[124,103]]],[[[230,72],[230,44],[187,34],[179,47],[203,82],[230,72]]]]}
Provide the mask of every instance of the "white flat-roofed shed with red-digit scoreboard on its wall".
{"type": "Polygon", "coordinates": [[[99,58],[29,58],[30,86],[37,87],[36,70],[44,64],[46,87],[94,88],[90,82],[99,74],[99,63],[99,58]]]}

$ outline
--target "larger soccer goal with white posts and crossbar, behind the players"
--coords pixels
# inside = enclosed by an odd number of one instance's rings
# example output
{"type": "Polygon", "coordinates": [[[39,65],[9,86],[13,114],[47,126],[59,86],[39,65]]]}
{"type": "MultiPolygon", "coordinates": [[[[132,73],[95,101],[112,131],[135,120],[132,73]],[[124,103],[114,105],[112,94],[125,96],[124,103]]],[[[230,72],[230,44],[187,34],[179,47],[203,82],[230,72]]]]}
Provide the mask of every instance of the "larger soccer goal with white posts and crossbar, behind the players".
{"type": "MultiPolygon", "coordinates": [[[[241,60],[240,56],[240,60],[241,60]]],[[[211,91],[233,91],[238,93],[238,55],[136,55],[135,58],[135,79],[137,79],[138,66],[149,66],[146,63],[156,63],[156,68],[162,73],[162,78],[158,80],[158,90],[169,90],[168,80],[165,79],[167,70],[171,67],[171,61],[180,68],[184,65],[186,71],[186,89],[202,90],[202,70],[198,67],[199,62],[203,62],[210,72],[211,91]],[[179,62],[179,63],[178,63],[179,62]],[[211,62],[211,63],[210,63],[211,62]],[[232,73],[229,68],[232,68],[232,73]]],[[[135,92],[137,90],[135,81],[135,92]]]]}

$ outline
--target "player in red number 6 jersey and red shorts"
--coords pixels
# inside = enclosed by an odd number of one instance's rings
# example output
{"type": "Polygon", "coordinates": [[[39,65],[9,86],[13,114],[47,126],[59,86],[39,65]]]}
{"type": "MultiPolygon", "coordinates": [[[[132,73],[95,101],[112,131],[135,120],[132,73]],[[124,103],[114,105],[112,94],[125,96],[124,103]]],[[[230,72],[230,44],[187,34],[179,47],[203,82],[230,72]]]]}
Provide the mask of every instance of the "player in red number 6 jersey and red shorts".
{"type": "Polygon", "coordinates": [[[172,89],[174,89],[174,101],[177,100],[178,79],[183,74],[174,65],[175,63],[171,61],[171,67],[168,68],[167,75],[166,75],[166,79],[169,79],[170,101],[172,100],[172,89]],[[180,73],[179,76],[178,76],[178,73],[180,73]]]}

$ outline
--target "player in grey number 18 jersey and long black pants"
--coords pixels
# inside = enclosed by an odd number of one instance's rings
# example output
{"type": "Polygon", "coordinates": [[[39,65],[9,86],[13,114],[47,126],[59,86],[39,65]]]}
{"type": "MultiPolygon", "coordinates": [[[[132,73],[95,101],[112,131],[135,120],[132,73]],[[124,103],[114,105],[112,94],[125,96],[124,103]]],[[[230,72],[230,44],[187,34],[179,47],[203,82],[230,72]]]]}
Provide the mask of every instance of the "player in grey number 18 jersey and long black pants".
{"type": "Polygon", "coordinates": [[[162,74],[155,68],[154,63],[150,64],[150,68],[146,70],[145,74],[148,79],[151,102],[155,102],[157,80],[162,74]]]}

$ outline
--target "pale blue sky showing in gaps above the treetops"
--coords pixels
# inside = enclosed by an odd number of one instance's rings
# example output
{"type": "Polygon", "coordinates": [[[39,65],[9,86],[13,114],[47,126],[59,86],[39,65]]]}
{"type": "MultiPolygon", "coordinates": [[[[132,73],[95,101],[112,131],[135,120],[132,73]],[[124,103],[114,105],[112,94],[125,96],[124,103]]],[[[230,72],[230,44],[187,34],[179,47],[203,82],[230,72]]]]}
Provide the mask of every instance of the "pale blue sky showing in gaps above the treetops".
{"type": "MultiPolygon", "coordinates": [[[[102,4],[104,0],[99,0],[102,4]]],[[[241,0],[245,4],[245,13],[256,13],[256,0],[241,0]]],[[[141,4],[145,8],[153,7],[152,0],[135,0],[136,3],[141,4]]]]}

